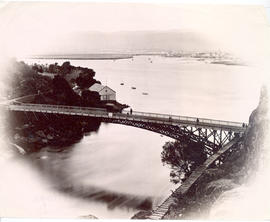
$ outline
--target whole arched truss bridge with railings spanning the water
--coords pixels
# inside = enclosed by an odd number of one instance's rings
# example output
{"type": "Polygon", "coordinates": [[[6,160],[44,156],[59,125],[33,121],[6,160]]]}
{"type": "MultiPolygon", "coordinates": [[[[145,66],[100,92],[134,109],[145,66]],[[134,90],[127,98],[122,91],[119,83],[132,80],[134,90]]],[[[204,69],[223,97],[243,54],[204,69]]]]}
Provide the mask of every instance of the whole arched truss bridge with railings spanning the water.
{"type": "Polygon", "coordinates": [[[106,109],[90,107],[30,103],[7,104],[5,107],[18,112],[99,118],[102,122],[137,127],[180,141],[202,142],[209,154],[215,153],[233,138],[241,136],[247,127],[247,124],[239,122],[147,112],[112,113],[106,109]]]}

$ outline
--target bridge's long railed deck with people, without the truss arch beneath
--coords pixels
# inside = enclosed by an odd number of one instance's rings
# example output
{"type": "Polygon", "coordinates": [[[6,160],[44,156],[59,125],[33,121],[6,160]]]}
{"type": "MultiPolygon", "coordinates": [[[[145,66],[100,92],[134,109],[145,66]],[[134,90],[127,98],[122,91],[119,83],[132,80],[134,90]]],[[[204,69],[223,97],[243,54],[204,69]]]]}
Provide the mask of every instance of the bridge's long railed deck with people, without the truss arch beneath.
{"type": "Polygon", "coordinates": [[[40,112],[40,113],[55,113],[65,114],[74,116],[89,116],[96,118],[105,118],[109,120],[129,120],[139,121],[146,123],[166,124],[166,125],[184,125],[201,127],[211,130],[224,130],[234,133],[241,133],[245,131],[243,123],[213,120],[206,118],[196,118],[188,116],[177,116],[169,114],[158,114],[158,113],[147,113],[147,112],[136,112],[132,114],[124,111],[122,113],[108,112],[102,108],[91,108],[91,107],[79,107],[79,106],[64,106],[64,105],[47,105],[47,104],[30,104],[30,103],[17,103],[5,105],[8,110],[23,111],[23,112],[40,112]]]}

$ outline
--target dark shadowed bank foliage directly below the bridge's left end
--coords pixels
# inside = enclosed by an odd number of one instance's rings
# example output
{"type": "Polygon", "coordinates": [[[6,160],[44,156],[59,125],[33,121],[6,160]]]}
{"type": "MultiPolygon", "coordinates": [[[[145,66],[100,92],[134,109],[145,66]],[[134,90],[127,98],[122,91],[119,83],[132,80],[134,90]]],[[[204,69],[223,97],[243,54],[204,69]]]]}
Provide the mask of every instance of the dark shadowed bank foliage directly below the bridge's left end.
{"type": "Polygon", "coordinates": [[[100,126],[100,120],[95,118],[42,113],[9,112],[6,121],[11,141],[23,147],[26,153],[48,145],[65,149],[79,141],[84,133],[98,131],[100,126]]]}

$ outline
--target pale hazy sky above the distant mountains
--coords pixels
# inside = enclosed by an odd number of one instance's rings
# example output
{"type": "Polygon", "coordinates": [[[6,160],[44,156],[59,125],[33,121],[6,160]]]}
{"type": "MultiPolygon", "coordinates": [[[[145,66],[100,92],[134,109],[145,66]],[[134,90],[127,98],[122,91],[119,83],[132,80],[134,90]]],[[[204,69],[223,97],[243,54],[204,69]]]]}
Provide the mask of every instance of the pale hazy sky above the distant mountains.
{"type": "Polygon", "coordinates": [[[261,6],[10,2],[0,10],[1,51],[11,55],[50,53],[63,43],[76,47],[71,36],[89,31],[138,30],[191,32],[217,49],[260,54],[266,27],[261,6]]]}

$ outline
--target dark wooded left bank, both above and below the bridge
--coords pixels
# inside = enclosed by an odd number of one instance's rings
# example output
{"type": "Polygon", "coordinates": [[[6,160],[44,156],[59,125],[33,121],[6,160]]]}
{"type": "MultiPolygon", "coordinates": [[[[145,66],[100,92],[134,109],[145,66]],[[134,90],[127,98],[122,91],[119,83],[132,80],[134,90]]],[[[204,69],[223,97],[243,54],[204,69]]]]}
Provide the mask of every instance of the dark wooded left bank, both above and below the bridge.
{"type": "MultiPolygon", "coordinates": [[[[89,87],[100,83],[95,71],[75,67],[69,62],[47,66],[12,61],[9,76],[5,80],[7,98],[13,102],[70,105],[105,108],[98,92],[89,87]],[[44,75],[45,74],[45,75],[44,75]],[[77,91],[74,91],[76,86],[77,91]],[[18,98],[18,99],[16,99],[18,98]]],[[[126,107],[115,102],[119,109],[126,107]]],[[[85,133],[97,131],[100,120],[69,117],[57,114],[7,112],[6,124],[12,143],[23,147],[26,153],[44,146],[56,149],[75,143],[85,133]]]]}

